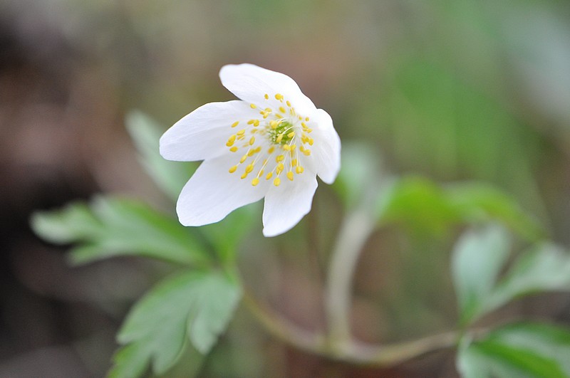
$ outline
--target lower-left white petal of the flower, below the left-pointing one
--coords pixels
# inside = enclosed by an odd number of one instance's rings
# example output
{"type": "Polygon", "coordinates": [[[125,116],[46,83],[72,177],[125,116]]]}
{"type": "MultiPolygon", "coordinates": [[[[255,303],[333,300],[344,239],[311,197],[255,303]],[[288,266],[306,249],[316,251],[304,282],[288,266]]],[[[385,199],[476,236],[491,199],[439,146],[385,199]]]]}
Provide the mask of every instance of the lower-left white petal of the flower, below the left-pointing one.
{"type": "Polygon", "coordinates": [[[230,174],[229,167],[237,164],[239,157],[224,155],[203,162],[178,197],[176,211],[180,223],[185,226],[203,226],[224,219],[238,207],[263,198],[268,183],[261,180],[252,186],[253,174],[240,179],[245,167],[230,174]]]}

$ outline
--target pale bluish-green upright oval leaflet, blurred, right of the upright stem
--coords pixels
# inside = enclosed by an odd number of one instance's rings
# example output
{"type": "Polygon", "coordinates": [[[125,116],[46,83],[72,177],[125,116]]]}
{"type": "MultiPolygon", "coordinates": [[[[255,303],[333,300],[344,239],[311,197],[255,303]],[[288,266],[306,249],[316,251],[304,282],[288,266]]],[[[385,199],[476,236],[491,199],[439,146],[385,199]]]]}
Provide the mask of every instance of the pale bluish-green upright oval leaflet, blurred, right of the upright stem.
{"type": "Polygon", "coordinates": [[[467,231],[452,253],[452,277],[460,306],[460,323],[467,324],[488,308],[497,276],[509,257],[507,231],[497,225],[467,231]]]}

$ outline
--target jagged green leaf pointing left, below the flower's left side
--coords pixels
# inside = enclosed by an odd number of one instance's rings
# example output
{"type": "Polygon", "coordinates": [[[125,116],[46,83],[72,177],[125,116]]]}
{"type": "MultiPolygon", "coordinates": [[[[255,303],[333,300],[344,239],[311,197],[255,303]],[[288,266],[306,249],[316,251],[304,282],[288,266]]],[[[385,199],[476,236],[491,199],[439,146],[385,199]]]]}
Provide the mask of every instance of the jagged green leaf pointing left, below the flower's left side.
{"type": "Polygon", "coordinates": [[[209,256],[175,219],[130,199],[96,197],[90,206],[69,204],[39,212],[33,230],[53,243],[77,243],[70,256],[88,263],[112,256],[138,255],[183,264],[204,264],[209,256]]]}

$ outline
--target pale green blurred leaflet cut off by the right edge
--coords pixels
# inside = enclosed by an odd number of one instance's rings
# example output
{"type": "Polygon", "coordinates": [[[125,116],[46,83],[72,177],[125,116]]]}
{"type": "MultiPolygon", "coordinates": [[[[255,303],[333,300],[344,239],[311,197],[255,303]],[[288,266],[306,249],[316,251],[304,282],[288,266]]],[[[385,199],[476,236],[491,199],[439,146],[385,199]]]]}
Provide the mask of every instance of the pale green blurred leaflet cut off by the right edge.
{"type": "Polygon", "coordinates": [[[489,296],[487,310],[522,295],[549,290],[570,290],[570,254],[544,243],[517,258],[489,296]]]}

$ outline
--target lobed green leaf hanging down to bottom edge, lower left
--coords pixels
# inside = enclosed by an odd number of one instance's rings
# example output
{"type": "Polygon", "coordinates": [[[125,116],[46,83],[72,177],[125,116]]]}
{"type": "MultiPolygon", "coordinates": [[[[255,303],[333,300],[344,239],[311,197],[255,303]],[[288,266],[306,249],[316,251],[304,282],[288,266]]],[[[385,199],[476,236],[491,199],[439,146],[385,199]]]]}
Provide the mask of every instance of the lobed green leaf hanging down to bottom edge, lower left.
{"type": "Polygon", "coordinates": [[[223,332],[241,298],[234,280],[217,272],[174,275],[150,290],[130,311],[118,333],[123,346],[111,377],[135,377],[149,364],[164,374],[177,362],[190,337],[207,354],[223,332]]]}

